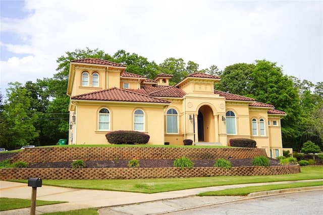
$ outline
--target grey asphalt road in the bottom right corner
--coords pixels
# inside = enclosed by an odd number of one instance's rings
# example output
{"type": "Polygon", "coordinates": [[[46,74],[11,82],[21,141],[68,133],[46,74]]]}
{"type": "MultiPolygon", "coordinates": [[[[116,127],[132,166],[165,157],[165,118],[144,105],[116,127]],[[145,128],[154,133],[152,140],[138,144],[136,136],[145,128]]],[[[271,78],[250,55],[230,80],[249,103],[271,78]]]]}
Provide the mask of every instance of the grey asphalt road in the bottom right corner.
{"type": "Polygon", "coordinates": [[[323,190],[272,195],[167,214],[323,214],[323,190]]]}

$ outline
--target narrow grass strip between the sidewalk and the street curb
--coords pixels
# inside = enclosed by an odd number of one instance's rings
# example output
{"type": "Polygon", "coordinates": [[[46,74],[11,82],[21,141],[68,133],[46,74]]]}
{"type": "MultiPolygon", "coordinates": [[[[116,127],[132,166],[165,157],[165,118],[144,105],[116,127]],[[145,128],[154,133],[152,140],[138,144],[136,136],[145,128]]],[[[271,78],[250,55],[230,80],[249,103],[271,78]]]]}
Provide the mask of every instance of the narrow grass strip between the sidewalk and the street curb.
{"type": "Polygon", "coordinates": [[[208,191],[208,192],[199,193],[197,194],[197,196],[246,196],[249,193],[253,193],[253,192],[297,188],[297,187],[312,187],[312,186],[321,186],[321,185],[323,185],[323,181],[297,182],[297,183],[290,183],[290,184],[271,184],[271,185],[250,186],[250,187],[217,190],[217,191],[208,191]]]}

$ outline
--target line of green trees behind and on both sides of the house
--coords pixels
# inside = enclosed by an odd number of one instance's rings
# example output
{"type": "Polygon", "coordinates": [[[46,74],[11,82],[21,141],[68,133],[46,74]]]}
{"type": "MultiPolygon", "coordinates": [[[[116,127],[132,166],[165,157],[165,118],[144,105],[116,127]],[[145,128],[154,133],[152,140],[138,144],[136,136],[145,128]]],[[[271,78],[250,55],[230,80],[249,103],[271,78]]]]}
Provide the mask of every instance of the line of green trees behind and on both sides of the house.
{"type": "Polygon", "coordinates": [[[136,53],[119,50],[110,55],[103,50],[89,48],[68,51],[58,57],[57,73],[52,78],[36,82],[9,83],[6,98],[0,94],[0,148],[9,150],[24,145],[55,145],[67,139],[69,129],[69,96],[66,95],[70,61],[100,58],[127,65],[126,71],[153,79],[157,74],[173,75],[174,85],[196,71],[219,76],[214,89],[256,101],[275,105],[285,111],[282,119],[283,147],[299,151],[311,140],[322,148],[323,142],[323,82],[283,74],[275,62],[255,60],[236,63],[219,70],[216,65],[199,69],[199,64],[170,57],[157,64],[136,53]]]}

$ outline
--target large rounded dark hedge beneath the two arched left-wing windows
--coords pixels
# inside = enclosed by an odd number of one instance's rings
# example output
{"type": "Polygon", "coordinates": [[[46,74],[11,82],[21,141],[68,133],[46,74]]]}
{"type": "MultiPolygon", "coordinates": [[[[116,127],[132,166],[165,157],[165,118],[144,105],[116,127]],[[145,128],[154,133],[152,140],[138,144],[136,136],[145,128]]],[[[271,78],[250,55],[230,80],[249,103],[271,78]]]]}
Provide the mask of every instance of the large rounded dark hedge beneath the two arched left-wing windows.
{"type": "Polygon", "coordinates": [[[105,134],[110,144],[147,144],[150,136],[133,130],[117,130],[105,134]]]}

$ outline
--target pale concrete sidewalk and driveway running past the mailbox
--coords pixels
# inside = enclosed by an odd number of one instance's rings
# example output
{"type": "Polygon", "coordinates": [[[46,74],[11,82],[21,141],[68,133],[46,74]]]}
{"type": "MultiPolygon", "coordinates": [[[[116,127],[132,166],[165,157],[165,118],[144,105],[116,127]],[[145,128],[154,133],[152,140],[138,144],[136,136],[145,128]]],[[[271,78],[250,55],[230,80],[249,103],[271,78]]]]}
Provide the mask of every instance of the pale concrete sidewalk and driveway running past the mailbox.
{"type": "MultiPolygon", "coordinates": [[[[99,214],[161,214],[169,211],[181,210],[183,208],[199,207],[203,205],[250,198],[243,196],[195,196],[200,192],[255,185],[297,183],[306,181],[323,181],[323,179],[225,185],[153,194],[42,186],[37,188],[37,200],[68,202],[37,206],[36,214],[90,207],[103,207],[98,210],[99,214]]],[[[316,187],[315,189],[323,190],[323,186],[316,187]]],[[[0,191],[1,197],[23,199],[31,198],[31,187],[28,187],[27,184],[24,183],[0,181],[0,191]]],[[[2,211],[0,214],[30,214],[30,208],[2,211]]]]}

